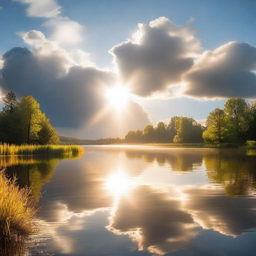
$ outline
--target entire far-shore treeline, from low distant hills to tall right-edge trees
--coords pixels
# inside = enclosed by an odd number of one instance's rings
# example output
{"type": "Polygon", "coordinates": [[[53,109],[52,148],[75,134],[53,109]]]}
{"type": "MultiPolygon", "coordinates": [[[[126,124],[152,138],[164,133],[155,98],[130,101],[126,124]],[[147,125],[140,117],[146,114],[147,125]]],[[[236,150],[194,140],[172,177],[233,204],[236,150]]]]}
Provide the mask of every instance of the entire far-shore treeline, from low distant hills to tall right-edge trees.
{"type": "Polygon", "coordinates": [[[237,147],[256,148],[256,101],[227,100],[224,109],[209,113],[206,126],[193,118],[173,116],[169,124],[159,122],[156,127],[147,125],[144,130],[129,131],[125,138],[80,140],[60,136],[62,144],[148,144],[162,146],[237,147]]]}

